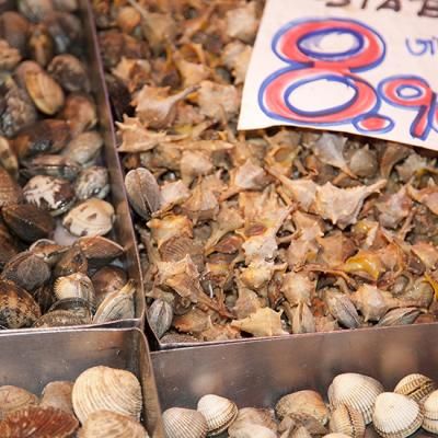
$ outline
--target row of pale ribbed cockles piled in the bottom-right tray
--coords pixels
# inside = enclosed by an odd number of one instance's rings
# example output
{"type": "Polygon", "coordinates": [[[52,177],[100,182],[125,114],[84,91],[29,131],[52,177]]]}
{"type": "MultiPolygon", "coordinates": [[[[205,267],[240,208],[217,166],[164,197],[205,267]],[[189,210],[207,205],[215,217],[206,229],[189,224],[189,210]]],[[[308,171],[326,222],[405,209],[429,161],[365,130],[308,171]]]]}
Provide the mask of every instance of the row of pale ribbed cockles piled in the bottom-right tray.
{"type": "Polygon", "coordinates": [[[344,373],[327,392],[328,404],[310,390],[283,396],[275,412],[238,408],[226,397],[207,394],[197,410],[171,407],[163,413],[168,438],[362,438],[371,427],[383,438],[405,438],[420,427],[438,434],[438,390],[426,376],[403,378],[393,392],[376,379],[344,373]],[[228,435],[226,435],[226,431],[228,435]]]}

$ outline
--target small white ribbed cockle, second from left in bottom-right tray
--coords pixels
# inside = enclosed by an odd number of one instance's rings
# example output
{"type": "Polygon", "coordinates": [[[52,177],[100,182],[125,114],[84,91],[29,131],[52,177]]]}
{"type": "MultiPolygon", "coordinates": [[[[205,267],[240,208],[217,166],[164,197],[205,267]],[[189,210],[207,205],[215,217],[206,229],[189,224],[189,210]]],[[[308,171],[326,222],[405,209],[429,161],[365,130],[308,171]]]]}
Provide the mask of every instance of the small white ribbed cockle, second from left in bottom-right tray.
{"type": "Polygon", "coordinates": [[[230,426],[238,416],[238,406],[231,400],[216,394],[207,394],[199,399],[198,412],[207,420],[208,435],[219,435],[230,426]]]}

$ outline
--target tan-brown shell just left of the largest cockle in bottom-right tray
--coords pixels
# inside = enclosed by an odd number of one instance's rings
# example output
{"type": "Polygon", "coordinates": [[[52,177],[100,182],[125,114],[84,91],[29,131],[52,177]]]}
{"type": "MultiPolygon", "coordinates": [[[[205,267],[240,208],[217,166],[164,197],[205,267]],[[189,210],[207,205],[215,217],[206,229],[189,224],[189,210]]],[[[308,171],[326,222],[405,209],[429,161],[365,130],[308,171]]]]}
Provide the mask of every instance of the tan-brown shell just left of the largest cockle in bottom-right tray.
{"type": "Polygon", "coordinates": [[[298,391],[283,396],[275,406],[277,416],[283,419],[291,414],[310,415],[322,425],[328,422],[328,410],[322,396],[315,391],[298,391]]]}

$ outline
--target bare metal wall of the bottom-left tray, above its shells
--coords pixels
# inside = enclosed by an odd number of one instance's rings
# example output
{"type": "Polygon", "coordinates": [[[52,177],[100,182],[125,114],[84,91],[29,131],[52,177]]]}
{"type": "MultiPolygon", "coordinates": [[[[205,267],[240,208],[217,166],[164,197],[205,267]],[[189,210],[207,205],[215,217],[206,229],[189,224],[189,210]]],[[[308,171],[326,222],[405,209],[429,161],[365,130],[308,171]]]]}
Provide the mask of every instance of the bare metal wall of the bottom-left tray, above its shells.
{"type": "Polygon", "coordinates": [[[50,330],[0,333],[0,385],[41,394],[53,380],[74,380],[89,367],[105,365],[134,372],[143,393],[143,418],[153,438],[164,438],[149,349],[138,328],[50,330]]]}

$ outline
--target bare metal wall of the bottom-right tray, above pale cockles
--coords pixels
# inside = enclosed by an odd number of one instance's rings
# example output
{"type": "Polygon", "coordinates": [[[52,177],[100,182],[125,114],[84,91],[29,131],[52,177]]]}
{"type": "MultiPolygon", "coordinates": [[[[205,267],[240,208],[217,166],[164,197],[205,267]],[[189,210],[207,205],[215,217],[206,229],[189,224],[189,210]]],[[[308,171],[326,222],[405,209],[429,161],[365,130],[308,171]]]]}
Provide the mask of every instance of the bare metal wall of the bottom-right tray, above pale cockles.
{"type": "MultiPolygon", "coordinates": [[[[239,407],[274,407],[293,391],[325,394],[342,372],[368,374],[387,389],[412,372],[437,381],[438,350],[430,342],[437,336],[437,324],[420,324],[153,351],[151,357],[163,411],[196,408],[207,393],[239,407]]],[[[377,435],[367,430],[366,436],[377,435]]]]}

